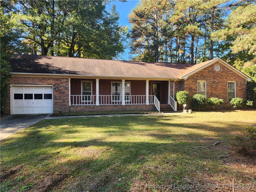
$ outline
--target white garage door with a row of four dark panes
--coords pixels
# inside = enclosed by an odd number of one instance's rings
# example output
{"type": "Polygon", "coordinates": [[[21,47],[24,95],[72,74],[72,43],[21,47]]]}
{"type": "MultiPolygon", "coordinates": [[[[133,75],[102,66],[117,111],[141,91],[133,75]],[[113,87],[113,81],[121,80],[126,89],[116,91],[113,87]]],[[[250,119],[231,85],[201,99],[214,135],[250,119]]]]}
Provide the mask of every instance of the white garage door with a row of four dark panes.
{"type": "Polygon", "coordinates": [[[52,87],[13,86],[13,114],[52,113],[52,87]]]}

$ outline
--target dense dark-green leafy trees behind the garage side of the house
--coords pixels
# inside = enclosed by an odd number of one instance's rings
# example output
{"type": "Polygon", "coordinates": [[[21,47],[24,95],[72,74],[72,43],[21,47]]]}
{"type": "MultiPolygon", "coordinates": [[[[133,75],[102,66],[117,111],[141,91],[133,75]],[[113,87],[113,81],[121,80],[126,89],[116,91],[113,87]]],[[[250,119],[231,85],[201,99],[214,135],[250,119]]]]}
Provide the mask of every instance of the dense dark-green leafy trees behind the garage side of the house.
{"type": "Polygon", "coordinates": [[[10,29],[15,43],[22,42],[30,54],[113,59],[124,51],[127,28],[119,25],[114,5],[107,12],[107,3],[1,1],[1,21],[8,18],[12,26],[4,28],[10,29]]]}

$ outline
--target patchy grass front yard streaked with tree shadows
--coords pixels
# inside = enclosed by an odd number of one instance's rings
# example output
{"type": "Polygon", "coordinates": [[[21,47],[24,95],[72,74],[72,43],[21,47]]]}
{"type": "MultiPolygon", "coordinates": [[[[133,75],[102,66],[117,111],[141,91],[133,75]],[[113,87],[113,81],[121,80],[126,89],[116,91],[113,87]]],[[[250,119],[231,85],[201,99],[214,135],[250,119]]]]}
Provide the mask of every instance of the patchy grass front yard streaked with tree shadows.
{"type": "Polygon", "coordinates": [[[1,141],[1,191],[232,191],[196,184],[233,176],[235,191],[256,191],[256,158],[230,147],[255,121],[255,110],[42,120],[1,141]]]}

